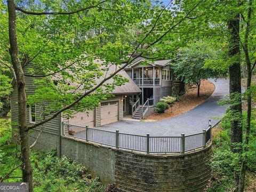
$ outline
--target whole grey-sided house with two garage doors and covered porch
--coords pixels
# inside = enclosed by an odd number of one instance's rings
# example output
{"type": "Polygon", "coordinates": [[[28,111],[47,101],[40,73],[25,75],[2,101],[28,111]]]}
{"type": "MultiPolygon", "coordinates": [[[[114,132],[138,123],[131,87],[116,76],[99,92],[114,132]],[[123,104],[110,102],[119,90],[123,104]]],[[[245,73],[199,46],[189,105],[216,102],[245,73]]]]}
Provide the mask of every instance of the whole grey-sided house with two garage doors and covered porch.
{"type": "MultiPolygon", "coordinates": [[[[120,121],[124,116],[141,119],[154,111],[154,106],[164,96],[172,95],[179,86],[174,81],[172,71],[169,69],[171,60],[148,61],[142,57],[136,58],[119,75],[129,79],[129,82],[122,86],[115,87],[112,92],[113,98],[103,100],[91,111],[79,112],[73,118],[63,119],[58,116],[44,124],[46,132],[58,132],[60,122],[67,122],[75,125],[89,125],[90,127],[101,126],[108,123],[120,121]],[[57,129],[56,129],[57,128],[57,129]]],[[[107,73],[111,74],[117,69],[110,66],[107,73]]],[[[102,77],[103,78],[103,77],[102,77]]],[[[100,82],[102,79],[98,79],[100,82]]],[[[106,83],[113,81],[109,79],[106,83]]],[[[17,85],[11,94],[12,121],[18,122],[17,85]]],[[[26,77],[27,94],[33,94],[36,90],[34,79],[26,77]]],[[[28,124],[37,122],[39,107],[30,106],[27,109],[28,124]]]]}

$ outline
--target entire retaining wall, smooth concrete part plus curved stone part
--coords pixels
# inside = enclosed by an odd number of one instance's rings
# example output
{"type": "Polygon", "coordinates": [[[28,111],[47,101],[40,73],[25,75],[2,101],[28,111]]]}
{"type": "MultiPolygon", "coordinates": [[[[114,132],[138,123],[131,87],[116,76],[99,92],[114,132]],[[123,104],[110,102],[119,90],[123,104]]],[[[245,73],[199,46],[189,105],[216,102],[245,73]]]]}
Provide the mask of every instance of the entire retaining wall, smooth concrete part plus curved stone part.
{"type": "Polygon", "coordinates": [[[211,146],[185,155],[146,155],[45,135],[36,148],[57,148],[61,155],[84,164],[103,183],[115,181],[125,191],[202,191],[210,178],[211,146]],[[44,147],[42,147],[42,145],[44,147]]]}

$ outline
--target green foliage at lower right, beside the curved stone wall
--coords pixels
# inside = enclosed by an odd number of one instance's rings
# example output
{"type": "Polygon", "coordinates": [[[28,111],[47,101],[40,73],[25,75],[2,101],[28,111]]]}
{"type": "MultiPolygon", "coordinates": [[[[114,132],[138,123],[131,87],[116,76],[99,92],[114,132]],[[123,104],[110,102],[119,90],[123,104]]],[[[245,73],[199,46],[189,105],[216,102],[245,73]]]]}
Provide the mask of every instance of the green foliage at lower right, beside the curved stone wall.
{"type": "MultiPolygon", "coordinates": [[[[255,116],[255,111],[253,113],[255,116]]],[[[241,156],[247,156],[247,167],[249,171],[256,172],[256,122],[252,119],[250,143],[247,146],[248,151],[242,153],[232,153],[230,150],[230,118],[229,113],[227,113],[221,120],[220,126],[222,131],[220,131],[213,138],[213,157],[211,159],[211,166],[215,173],[221,176],[218,183],[214,183],[213,186],[208,191],[227,191],[232,188],[233,183],[233,171],[241,170],[241,156]],[[228,183],[228,185],[227,185],[228,183]]],[[[243,121],[246,121],[246,113],[243,113],[243,121]]],[[[245,123],[243,130],[245,132],[245,123]]],[[[238,146],[237,146],[238,147],[238,146]]],[[[245,147],[245,146],[244,146],[245,147]]]]}

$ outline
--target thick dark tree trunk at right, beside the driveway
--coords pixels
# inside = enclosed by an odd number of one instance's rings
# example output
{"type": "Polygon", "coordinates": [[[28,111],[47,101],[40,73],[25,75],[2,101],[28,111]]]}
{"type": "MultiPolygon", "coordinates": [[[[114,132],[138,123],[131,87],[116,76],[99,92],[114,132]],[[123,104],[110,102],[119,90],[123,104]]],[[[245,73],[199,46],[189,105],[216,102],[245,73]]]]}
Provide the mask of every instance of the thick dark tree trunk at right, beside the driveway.
{"type": "MultiPolygon", "coordinates": [[[[241,102],[241,65],[240,65],[240,50],[239,50],[239,14],[235,18],[228,21],[228,29],[230,31],[229,39],[229,57],[233,60],[233,63],[229,67],[229,94],[230,99],[238,98],[237,104],[230,105],[232,117],[231,119],[231,150],[233,153],[240,153],[241,149],[237,149],[235,146],[241,144],[243,141],[242,130],[242,102],[241,102]],[[238,97],[235,97],[235,95],[238,97]]],[[[236,184],[236,190],[239,183],[239,173],[234,171],[234,180],[236,184]]]]}

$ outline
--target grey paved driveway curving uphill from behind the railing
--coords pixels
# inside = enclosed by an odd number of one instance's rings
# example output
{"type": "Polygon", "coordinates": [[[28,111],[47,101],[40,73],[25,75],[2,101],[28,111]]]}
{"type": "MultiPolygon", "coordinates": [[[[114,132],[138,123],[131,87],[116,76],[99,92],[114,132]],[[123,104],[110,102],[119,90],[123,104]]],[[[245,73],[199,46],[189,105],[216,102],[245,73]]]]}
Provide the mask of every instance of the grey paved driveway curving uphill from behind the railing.
{"type": "MultiPolygon", "coordinates": [[[[217,81],[210,79],[210,81],[215,85],[215,91],[211,97],[185,114],[157,122],[118,121],[99,126],[97,129],[119,130],[121,133],[139,135],[150,133],[151,136],[180,136],[181,133],[192,134],[202,132],[203,129],[207,129],[209,118],[222,116],[227,108],[227,106],[219,106],[217,102],[223,99],[229,92],[228,79],[220,78],[217,81]]],[[[218,119],[212,119],[212,125],[218,122],[218,119]]]]}

